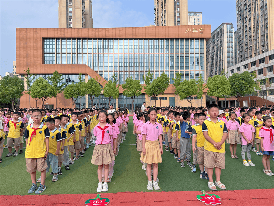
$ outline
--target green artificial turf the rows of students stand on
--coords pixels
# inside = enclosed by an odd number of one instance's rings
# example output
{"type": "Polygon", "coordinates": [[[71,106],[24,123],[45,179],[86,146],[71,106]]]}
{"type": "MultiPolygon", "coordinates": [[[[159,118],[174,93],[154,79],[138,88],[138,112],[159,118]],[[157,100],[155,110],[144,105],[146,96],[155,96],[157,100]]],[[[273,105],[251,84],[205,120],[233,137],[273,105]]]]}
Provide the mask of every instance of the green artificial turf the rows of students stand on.
{"type": "MultiPolygon", "coordinates": [[[[115,160],[113,178],[111,183],[108,183],[108,193],[148,191],[146,189],[147,176],[141,168],[140,155],[135,146],[135,136],[132,134],[132,118],[130,117],[130,119],[126,141],[120,146],[120,151],[115,160]]],[[[43,194],[96,193],[97,166],[90,163],[93,148],[91,146],[90,149],[87,149],[84,157],[80,157],[78,161],[75,161],[75,164],[70,165],[69,171],[66,171],[62,165],[63,175],[58,175],[57,182],[51,182],[52,176],[48,173],[45,182],[47,190],[43,194]]],[[[227,190],[269,189],[274,187],[274,176],[267,176],[263,173],[262,156],[257,156],[255,152],[251,152],[251,161],[256,166],[246,167],[242,164],[240,145],[237,146],[236,153],[239,159],[230,157],[229,145],[226,145],[226,151],[226,168],[222,170],[221,181],[226,185],[227,190]]],[[[26,172],[24,154],[19,154],[17,157],[5,157],[7,153],[8,149],[5,148],[2,155],[3,162],[0,163],[0,195],[27,195],[31,186],[31,179],[30,174],[26,172]]],[[[186,167],[181,168],[180,163],[174,159],[174,155],[170,154],[169,151],[163,151],[162,159],[163,162],[159,163],[160,190],[158,191],[209,190],[208,181],[200,179],[198,169],[197,173],[192,173],[191,168],[186,163],[186,167]]],[[[272,160],[270,160],[270,165],[274,171],[272,160]]],[[[37,178],[39,176],[40,172],[37,172],[37,178]]],[[[214,173],[213,180],[215,181],[214,173]]],[[[220,189],[218,188],[218,190],[220,189]]],[[[34,193],[30,195],[34,195],[34,193]]]]}

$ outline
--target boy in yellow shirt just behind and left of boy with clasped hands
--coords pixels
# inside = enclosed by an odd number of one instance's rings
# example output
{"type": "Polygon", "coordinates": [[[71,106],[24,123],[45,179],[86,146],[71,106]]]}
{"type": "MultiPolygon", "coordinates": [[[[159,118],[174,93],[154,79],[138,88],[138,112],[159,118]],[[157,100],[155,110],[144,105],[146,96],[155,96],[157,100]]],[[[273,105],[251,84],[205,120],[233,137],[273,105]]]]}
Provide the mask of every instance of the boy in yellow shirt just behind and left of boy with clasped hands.
{"type": "Polygon", "coordinates": [[[199,164],[199,168],[200,168],[200,178],[208,179],[206,167],[204,171],[205,138],[202,132],[202,124],[204,121],[206,121],[206,114],[203,112],[198,113],[197,120],[198,120],[198,124],[192,128],[192,151],[193,151],[193,154],[195,153],[195,151],[197,152],[197,164],[199,164]],[[195,144],[197,145],[197,147],[193,146],[195,144]]]}

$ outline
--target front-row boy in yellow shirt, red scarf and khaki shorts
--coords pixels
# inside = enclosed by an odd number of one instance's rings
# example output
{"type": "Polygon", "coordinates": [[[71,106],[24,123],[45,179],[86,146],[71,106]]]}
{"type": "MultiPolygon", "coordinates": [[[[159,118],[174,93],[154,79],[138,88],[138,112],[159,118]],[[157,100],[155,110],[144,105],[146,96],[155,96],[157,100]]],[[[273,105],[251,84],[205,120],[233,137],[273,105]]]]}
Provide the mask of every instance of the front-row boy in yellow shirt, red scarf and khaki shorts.
{"type": "Polygon", "coordinates": [[[40,185],[35,194],[42,193],[46,188],[46,158],[49,151],[50,132],[46,125],[41,123],[42,112],[34,109],[31,118],[33,123],[27,126],[24,138],[26,139],[26,171],[30,173],[32,186],[28,193],[33,193],[36,189],[36,171],[41,172],[40,185]]]}

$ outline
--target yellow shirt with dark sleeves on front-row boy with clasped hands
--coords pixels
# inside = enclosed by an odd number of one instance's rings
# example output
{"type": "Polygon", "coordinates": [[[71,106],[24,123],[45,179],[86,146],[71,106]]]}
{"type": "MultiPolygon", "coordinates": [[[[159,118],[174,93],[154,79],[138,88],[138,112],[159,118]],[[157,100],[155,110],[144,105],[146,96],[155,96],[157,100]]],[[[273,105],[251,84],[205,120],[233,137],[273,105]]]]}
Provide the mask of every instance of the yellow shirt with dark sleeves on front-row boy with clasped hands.
{"type": "MultiPolygon", "coordinates": [[[[203,125],[202,125],[202,132],[208,132],[208,136],[213,139],[213,141],[215,141],[216,143],[220,142],[222,137],[223,137],[223,133],[226,132],[227,133],[227,127],[226,124],[221,121],[220,119],[217,118],[216,123],[214,123],[213,121],[211,121],[210,117],[204,121],[203,125]]],[[[219,152],[219,153],[224,153],[225,152],[225,142],[223,142],[223,144],[221,145],[222,149],[221,150],[217,150],[215,148],[215,146],[213,144],[211,144],[209,141],[207,141],[205,139],[205,146],[204,149],[208,150],[208,151],[212,151],[212,152],[219,152]]]]}

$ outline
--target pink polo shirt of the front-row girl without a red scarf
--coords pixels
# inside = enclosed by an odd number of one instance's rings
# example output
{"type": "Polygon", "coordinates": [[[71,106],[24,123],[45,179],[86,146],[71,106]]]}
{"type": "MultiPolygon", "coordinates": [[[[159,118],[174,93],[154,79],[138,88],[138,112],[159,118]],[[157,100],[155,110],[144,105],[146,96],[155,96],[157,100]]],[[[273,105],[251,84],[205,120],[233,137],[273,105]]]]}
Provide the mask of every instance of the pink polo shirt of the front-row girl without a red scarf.
{"type": "Polygon", "coordinates": [[[158,122],[152,124],[148,121],[144,124],[141,134],[146,135],[146,140],[155,141],[159,135],[163,134],[163,127],[158,122]]]}

